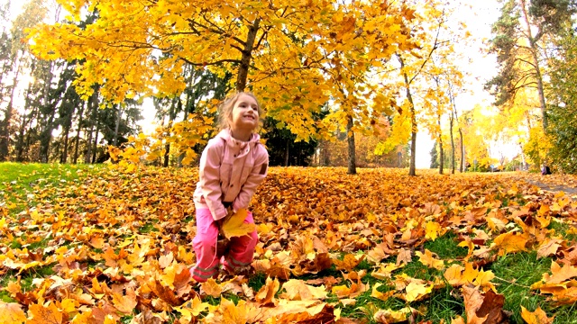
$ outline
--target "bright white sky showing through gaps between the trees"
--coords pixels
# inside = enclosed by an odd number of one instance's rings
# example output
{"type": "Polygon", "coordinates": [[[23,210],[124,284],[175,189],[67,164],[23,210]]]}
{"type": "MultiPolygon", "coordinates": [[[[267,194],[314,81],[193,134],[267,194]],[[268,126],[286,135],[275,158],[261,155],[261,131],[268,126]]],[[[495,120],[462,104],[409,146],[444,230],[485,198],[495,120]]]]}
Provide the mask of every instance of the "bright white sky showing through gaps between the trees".
{"type": "MultiPolygon", "coordinates": [[[[4,2],[5,0],[0,0],[4,2]]],[[[497,0],[462,0],[466,5],[458,8],[459,17],[466,22],[468,30],[472,33],[472,44],[469,48],[463,49],[466,60],[462,62],[463,68],[469,71],[468,93],[460,94],[456,98],[457,109],[461,112],[471,110],[475,104],[489,106],[492,97],[483,89],[483,84],[494,76],[497,69],[496,60],[493,56],[486,56],[481,53],[483,40],[490,38],[490,25],[499,16],[500,4],[497,0]]],[[[11,13],[13,17],[20,13],[25,1],[11,1],[11,13]]],[[[258,95],[258,94],[257,94],[258,95]]],[[[146,100],[142,107],[141,122],[145,132],[151,132],[156,127],[154,124],[154,108],[151,100],[146,100]]],[[[430,152],[435,144],[428,132],[419,131],[417,133],[417,168],[428,168],[431,163],[430,152]]]]}

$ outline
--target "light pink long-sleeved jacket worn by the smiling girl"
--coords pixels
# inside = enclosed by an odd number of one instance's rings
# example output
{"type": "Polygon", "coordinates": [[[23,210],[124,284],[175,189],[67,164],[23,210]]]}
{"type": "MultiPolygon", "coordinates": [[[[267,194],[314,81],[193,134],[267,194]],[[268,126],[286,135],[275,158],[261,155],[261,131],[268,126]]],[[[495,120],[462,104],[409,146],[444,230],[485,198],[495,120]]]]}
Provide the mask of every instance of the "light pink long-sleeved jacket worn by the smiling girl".
{"type": "Polygon", "coordinates": [[[208,208],[213,218],[220,220],[226,216],[223,202],[233,202],[234,211],[249,206],[269,166],[269,153],[259,139],[252,134],[251,140],[243,142],[234,139],[230,130],[221,130],[208,141],[200,157],[194,193],[197,209],[208,208]]]}

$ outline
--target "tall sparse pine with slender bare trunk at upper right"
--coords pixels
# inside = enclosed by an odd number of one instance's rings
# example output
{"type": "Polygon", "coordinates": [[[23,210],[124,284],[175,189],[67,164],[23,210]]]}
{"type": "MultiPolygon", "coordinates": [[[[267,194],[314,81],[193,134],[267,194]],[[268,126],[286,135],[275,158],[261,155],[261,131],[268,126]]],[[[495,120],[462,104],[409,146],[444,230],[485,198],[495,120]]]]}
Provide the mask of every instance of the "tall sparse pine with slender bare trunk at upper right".
{"type": "Polygon", "coordinates": [[[498,106],[511,104],[520,89],[538,94],[543,128],[547,128],[544,72],[547,48],[571,23],[577,10],[572,0],[502,0],[501,15],[492,26],[490,52],[497,54],[499,74],[485,86],[498,106]]]}

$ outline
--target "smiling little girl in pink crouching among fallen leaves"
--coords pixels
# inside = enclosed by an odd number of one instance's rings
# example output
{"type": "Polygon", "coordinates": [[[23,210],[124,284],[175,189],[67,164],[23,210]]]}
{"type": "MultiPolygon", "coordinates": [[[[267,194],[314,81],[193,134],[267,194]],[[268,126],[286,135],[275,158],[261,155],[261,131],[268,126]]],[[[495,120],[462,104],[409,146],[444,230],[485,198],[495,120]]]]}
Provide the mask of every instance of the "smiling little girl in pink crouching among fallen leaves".
{"type": "MultiPolygon", "coordinates": [[[[254,131],[259,126],[261,106],[254,94],[237,93],[220,106],[221,131],[208,141],[200,157],[197,190],[194,201],[197,210],[197,236],[192,240],[197,265],[190,269],[192,278],[203,283],[218,275],[218,266],[234,270],[252,262],[258,241],[256,230],[232,238],[224,256],[216,250],[218,233],[224,218],[245,209],[267,175],[269,154],[254,131]]],[[[253,223],[249,211],[245,222],[253,223]]]]}

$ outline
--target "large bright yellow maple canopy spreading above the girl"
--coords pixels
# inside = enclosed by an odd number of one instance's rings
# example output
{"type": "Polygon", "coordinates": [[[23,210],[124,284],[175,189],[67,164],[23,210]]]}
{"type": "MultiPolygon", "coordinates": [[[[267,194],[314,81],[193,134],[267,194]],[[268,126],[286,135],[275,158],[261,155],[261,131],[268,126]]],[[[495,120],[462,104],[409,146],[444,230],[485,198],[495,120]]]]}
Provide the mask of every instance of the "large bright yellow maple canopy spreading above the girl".
{"type": "MultiPolygon", "coordinates": [[[[86,29],[74,23],[45,24],[32,31],[31,39],[42,58],[84,59],[77,86],[85,99],[93,85],[101,85],[101,94],[111,103],[137,95],[179,94],[186,88],[183,68],[204,67],[218,76],[232,73],[235,89],[248,86],[256,92],[270,116],[298,140],[330,134],[329,122],[313,118],[330,98],[342,101],[346,110],[357,106],[362,93],[373,97],[376,107],[387,108],[374,98],[378,93],[361,88],[363,71],[375,60],[412,48],[404,25],[414,17],[404,4],[60,4],[73,21],[87,11],[98,18],[86,29]]],[[[356,109],[371,115],[364,106],[356,109]]],[[[346,125],[350,119],[340,121],[346,125]]]]}

